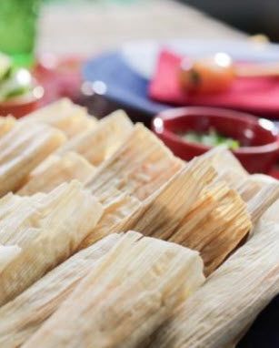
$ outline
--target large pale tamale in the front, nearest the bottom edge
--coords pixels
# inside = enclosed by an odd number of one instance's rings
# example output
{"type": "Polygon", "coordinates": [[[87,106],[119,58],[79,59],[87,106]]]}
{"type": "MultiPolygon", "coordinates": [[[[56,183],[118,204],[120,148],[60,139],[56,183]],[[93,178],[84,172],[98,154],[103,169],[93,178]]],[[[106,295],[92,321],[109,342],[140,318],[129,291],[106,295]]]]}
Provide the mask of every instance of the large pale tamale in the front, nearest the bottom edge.
{"type": "Polygon", "coordinates": [[[203,283],[202,269],[197,252],[128,232],[23,347],[139,346],[203,283]]]}

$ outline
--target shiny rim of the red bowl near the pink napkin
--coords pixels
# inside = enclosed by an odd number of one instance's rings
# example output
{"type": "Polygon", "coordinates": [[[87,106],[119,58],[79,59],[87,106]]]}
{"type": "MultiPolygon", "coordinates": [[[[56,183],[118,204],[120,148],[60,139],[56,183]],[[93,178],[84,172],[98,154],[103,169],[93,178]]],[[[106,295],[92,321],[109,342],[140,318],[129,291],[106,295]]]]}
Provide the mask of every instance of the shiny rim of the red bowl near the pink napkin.
{"type": "Polygon", "coordinates": [[[246,121],[247,123],[256,124],[260,128],[264,128],[264,130],[270,132],[274,136],[274,141],[260,146],[251,146],[251,147],[241,147],[232,152],[235,155],[244,155],[244,154],[260,154],[260,153],[270,153],[279,150],[279,129],[276,128],[274,122],[266,118],[257,118],[252,114],[248,114],[242,111],[236,111],[229,108],[224,107],[171,107],[166,110],[159,112],[152,120],[152,128],[156,134],[163,135],[165,138],[172,140],[176,145],[187,146],[198,148],[203,151],[210,150],[213,147],[190,142],[182,139],[178,135],[176,135],[173,131],[168,128],[164,128],[164,120],[172,120],[175,118],[185,118],[193,115],[201,115],[204,113],[209,113],[211,115],[207,115],[209,118],[221,117],[221,118],[230,118],[230,119],[240,119],[242,121],[246,121]],[[161,121],[157,121],[157,119],[161,119],[161,121]]]}

